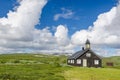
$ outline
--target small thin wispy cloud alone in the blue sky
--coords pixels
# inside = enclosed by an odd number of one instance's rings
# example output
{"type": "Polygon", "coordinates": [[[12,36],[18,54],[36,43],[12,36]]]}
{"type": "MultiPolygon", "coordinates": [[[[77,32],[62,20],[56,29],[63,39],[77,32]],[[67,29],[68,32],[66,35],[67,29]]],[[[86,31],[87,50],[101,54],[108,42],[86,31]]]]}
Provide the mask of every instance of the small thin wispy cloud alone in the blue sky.
{"type": "Polygon", "coordinates": [[[59,20],[59,18],[70,19],[74,15],[74,12],[72,12],[71,10],[68,10],[65,8],[61,8],[61,10],[62,10],[62,13],[55,14],[54,16],[55,21],[59,20]]]}

